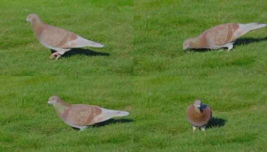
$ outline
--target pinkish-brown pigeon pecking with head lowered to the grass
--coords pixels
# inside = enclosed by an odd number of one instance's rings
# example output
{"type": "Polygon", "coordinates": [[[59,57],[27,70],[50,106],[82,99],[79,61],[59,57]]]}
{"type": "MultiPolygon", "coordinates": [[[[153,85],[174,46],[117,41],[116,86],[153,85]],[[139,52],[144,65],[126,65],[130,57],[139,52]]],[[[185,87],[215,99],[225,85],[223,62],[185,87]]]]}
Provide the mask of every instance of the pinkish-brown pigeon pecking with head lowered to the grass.
{"type": "Polygon", "coordinates": [[[265,27],[266,24],[257,22],[240,24],[225,23],[205,30],[197,37],[188,38],[183,43],[183,49],[187,48],[210,48],[219,49],[227,47],[228,51],[233,48],[235,40],[247,32],[265,27]]]}

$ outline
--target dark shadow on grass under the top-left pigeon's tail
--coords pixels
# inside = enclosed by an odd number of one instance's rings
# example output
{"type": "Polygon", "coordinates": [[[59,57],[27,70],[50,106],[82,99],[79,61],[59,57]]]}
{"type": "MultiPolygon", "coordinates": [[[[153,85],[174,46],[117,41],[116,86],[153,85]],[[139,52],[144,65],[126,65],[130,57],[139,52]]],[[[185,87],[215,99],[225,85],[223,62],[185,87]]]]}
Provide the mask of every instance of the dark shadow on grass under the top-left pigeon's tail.
{"type": "MultiPolygon", "coordinates": [[[[51,49],[51,53],[53,53],[55,50],[51,49]]],[[[61,57],[69,57],[72,55],[86,55],[86,56],[109,56],[109,53],[106,52],[97,52],[90,49],[84,49],[84,48],[72,48],[69,51],[66,51],[61,57]]]]}

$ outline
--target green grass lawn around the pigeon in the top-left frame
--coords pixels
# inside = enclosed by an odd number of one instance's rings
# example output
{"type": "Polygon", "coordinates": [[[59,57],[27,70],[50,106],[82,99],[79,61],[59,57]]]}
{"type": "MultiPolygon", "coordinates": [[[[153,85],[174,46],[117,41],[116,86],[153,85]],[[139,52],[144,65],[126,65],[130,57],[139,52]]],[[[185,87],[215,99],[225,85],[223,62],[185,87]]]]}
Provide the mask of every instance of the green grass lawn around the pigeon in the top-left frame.
{"type": "Polygon", "coordinates": [[[0,0],[0,75],[131,75],[132,16],[132,0],[0,0]],[[50,60],[25,23],[29,13],[104,48],[50,60]]]}

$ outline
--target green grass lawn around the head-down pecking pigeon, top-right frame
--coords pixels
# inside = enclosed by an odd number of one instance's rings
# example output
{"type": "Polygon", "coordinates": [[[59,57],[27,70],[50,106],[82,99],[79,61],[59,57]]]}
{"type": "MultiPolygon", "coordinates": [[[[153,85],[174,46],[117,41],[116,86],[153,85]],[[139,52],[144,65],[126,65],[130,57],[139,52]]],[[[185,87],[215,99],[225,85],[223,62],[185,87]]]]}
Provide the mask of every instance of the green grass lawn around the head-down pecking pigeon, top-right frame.
{"type": "Polygon", "coordinates": [[[136,0],[134,10],[135,75],[267,73],[267,28],[245,34],[230,52],[182,50],[185,39],[218,24],[267,23],[266,0],[136,0]]]}

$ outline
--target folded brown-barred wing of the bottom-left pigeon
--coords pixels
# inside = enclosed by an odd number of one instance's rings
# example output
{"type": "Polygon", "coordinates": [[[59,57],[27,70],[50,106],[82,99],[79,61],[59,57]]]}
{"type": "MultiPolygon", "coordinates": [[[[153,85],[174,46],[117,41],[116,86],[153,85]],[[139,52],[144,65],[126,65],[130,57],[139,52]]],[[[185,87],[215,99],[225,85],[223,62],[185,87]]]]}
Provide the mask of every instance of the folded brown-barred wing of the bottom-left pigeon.
{"type": "Polygon", "coordinates": [[[78,126],[94,124],[94,119],[102,113],[98,106],[71,104],[66,121],[78,126]]]}

